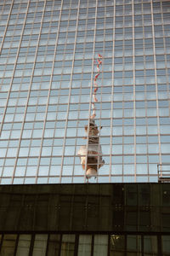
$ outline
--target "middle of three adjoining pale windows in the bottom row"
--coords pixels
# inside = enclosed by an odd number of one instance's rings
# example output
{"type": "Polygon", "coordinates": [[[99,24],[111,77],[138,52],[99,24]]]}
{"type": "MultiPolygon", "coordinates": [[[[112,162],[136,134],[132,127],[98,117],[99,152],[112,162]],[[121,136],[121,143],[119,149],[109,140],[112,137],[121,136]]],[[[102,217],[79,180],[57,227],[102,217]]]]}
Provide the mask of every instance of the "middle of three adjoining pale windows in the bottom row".
{"type": "Polygon", "coordinates": [[[91,255],[92,236],[81,235],[79,236],[78,256],[91,255]]]}

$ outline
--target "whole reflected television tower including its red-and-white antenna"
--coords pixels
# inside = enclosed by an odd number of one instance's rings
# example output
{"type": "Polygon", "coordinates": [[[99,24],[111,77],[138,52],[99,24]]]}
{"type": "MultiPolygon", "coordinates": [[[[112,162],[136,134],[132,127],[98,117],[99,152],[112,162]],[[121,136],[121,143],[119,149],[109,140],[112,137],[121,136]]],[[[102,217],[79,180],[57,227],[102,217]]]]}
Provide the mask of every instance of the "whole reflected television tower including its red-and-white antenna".
{"type": "Polygon", "coordinates": [[[96,92],[98,90],[98,84],[96,83],[96,80],[99,77],[100,73],[99,65],[102,63],[102,61],[100,60],[101,58],[102,56],[99,55],[97,65],[98,73],[95,75],[94,78],[94,102],[92,102],[93,114],[89,120],[89,127],[88,125],[85,126],[85,131],[88,134],[88,137],[84,138],[88,139],[88,143],[86,146],[82,146],[77,153],[81,158],[82,169],[86,172],[87,178],[96,177],[98,169],[105,164],[105,160],[102,160],[101,145],[99,144],[99,129],[98,126],[95,125],[94,121],[94,118],[96,116],[95,102],[98,102],[96,98],[96,92]]]}

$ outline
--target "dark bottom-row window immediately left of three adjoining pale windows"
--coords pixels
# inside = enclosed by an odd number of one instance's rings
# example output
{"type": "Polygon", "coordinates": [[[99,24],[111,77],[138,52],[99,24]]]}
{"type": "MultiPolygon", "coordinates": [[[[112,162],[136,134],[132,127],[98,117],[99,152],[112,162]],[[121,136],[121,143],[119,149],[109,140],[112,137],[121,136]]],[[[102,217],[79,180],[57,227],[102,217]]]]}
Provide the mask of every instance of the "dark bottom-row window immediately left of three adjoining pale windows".
{"type": "Polygon", "coordinates": [[[59,256],[60,235],[50,235],[48,241],[48,256],[59,256]]]}

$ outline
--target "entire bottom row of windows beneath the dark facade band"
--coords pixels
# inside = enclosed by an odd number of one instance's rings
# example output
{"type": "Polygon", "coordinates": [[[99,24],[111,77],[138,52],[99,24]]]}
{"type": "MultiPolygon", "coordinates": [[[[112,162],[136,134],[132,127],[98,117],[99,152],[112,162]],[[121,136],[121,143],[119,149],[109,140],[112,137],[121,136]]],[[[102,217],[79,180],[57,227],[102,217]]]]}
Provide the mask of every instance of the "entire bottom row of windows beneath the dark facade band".
{"type": "Polygon", "coordinates": [[[170,236],[3,234],[3,256],[167,256],[170,236]]]}

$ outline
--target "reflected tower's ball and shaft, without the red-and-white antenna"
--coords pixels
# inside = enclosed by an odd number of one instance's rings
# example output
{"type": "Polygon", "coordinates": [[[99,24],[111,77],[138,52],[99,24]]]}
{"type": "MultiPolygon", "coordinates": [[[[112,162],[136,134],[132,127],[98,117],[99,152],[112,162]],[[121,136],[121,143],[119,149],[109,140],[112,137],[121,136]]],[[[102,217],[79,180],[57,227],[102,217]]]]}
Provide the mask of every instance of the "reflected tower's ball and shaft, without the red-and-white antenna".
{"type": "Polygon", "coordinates": [[[88,125],[85,126],[85,131],[88,133],[88,137],[85,137],[88,139],[88,143],[78,150],[78,155],[81,158],[82,169],[86,169],[86,177],[96,177],[98,169],[105,164],[105,160],[102,160],[99,130],[94,119],[90,119],[89,131],[88,125]]]}

